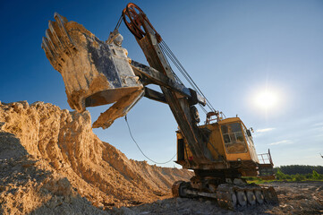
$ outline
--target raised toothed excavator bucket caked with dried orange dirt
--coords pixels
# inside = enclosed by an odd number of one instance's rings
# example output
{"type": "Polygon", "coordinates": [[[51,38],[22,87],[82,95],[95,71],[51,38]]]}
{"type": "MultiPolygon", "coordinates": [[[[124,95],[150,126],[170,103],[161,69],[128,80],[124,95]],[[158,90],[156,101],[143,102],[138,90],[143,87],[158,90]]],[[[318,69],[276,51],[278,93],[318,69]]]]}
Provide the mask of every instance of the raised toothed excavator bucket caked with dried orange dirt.
{"type": "Polygon", "coordinates": [[[85,111],[115,103],[99,116],[93,127],[106,128],[124,116],[143,94],[133,73],[123,36],[117,30],[106,42],[99,40],[77,22],[58,13],[49,21],[41,47],[55,70],[62,74],[67,101],[72,109],[85,111]]]}

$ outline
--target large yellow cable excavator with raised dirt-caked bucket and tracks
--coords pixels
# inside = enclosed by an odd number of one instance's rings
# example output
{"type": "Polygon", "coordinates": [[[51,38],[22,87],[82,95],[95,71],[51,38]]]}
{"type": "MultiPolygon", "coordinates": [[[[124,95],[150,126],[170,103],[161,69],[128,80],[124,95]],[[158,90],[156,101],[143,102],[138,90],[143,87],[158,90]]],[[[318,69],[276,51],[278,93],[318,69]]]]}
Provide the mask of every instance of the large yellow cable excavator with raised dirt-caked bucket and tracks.
{"type": "Polygon", "coordinates": [[[138,5],[126,5],[106,41],[58,13],[54,17],[55,21],[48,23],[41,47],[50,64],[63,76],[70,107],[81,113],[86,107],[112,104],[93,123],[93,128],[106,129],[118,117],[126,116],[142,97],[170,107],[178,124],[175,162],[193,170],[195,175],[188,182],[174,183],[174,197],[212,198],[229,210],[278,202],[272,186],[248,184],[244,179],[275,177],[270,151],[258,156],[251,129],[239,117],[226,118],[211,106],[138,5]],[[149,65],[128,57],[118,30],[122,21],[149,65]],[[183,73],[192,89],[185,87],[169,61],[183,73]],[[150,84],[160,90],[149,88],[150,84]],[[203,125],[196,106],[210,108],[203,125]]]}

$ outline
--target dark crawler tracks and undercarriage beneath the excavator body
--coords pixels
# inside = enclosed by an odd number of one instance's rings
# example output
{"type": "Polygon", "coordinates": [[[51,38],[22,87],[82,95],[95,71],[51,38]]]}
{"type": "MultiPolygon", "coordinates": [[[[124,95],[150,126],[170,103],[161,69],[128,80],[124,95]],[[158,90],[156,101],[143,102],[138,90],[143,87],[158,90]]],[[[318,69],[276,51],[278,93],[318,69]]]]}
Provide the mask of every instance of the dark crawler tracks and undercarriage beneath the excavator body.
{"type": "Polygon", "coordinates": [[[277,204],[275,189],[268,185],[247,184],[242,178],[191,177],[191,182],[176,181],[172,187],[174,197],[212,198],[225,209],[237,210],[256,205],[277,204]]]}

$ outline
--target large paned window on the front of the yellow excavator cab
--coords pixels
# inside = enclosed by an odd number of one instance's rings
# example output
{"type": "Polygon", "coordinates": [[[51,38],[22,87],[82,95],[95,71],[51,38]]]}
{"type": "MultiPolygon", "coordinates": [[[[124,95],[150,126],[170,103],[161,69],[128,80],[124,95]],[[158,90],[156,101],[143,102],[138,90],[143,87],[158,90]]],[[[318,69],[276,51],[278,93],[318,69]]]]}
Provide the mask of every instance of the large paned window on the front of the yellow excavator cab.
{"type": "Polygon", "coordinates": [[[221,131],[227,153],[242,153],[247,151],[242,128],[239,123],[221,125],[221,131]]]}

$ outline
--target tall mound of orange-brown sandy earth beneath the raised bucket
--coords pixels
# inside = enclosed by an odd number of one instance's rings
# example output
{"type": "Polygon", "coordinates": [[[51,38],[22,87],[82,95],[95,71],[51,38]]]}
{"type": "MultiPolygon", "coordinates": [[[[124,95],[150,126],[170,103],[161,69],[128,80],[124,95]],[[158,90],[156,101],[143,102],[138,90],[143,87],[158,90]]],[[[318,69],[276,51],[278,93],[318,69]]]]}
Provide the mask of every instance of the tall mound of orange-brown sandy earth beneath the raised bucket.
{"type": "Polygon", "coordinates": [[[0,104],[0,213],[106,213],[170,197],[174,181],[190,177],[127,159],[92,132],[87,111],[0,104]]]}

